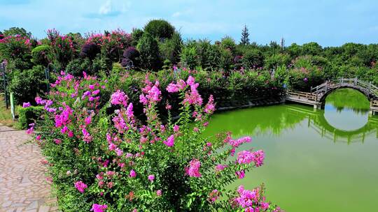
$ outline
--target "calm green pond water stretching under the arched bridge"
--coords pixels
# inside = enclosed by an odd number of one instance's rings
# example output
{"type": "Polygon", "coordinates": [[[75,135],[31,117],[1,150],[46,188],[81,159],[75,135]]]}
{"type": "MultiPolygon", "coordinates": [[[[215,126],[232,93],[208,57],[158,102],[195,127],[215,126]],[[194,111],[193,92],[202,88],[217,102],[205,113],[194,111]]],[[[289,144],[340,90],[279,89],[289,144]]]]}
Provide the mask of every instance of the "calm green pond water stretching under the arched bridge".
{"type": "Polygon", "coordinates": [[[331,93],[322,110],[286,104],[215,114],[206,135],[231,131],[262,149],[265,164],[236,181],[265,183],[267,198],[292,212],[378,211],[378,116],[358,91],[331,93]]]}

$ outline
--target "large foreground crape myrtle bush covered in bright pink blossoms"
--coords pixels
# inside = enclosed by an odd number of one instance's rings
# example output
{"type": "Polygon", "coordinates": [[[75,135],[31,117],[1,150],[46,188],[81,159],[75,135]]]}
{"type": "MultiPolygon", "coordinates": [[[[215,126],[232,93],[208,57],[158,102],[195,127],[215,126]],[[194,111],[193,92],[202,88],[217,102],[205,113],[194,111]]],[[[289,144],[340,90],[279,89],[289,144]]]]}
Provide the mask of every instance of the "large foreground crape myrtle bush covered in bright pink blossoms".
{"type": "Polygon", "coordinates": [[[236,153],[250,137],[202,136],[215,103],[212,96],[204,103],[192,76],[164,89],[181,99],[180,118],[167,123],[156,107],[160,82],[145,80],[144,121],[124,91],[106,84],[62,73],[48,100],[36,98],[44,120],[27,132],[46,156],[62,211],[281,211],[267,202],[262,186],[225,188],[260,167],[264,152],[236,153]]]}

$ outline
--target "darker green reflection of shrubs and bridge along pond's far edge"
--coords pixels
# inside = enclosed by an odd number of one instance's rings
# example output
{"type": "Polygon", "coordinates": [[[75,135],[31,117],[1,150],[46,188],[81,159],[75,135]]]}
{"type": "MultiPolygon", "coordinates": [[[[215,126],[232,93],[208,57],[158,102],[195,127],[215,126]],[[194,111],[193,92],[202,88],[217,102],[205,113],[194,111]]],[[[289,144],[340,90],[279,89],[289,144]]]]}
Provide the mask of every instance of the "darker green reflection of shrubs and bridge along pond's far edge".
{"type": "Polygon", "coordinates": [[[288,104],[216,114],[216,121],[211,122],[212,127],[207,133],[232,131],[235,137],[279,136],[283,131],[306,123],[307,128],[332,142],[364,142],[367,135],[378,138],[378,116],[371,116],[368,111],[369,101],[362,93],[339,89],[326,98],[325,109],[322,110],[288,104]]]}

